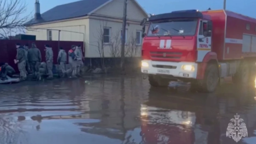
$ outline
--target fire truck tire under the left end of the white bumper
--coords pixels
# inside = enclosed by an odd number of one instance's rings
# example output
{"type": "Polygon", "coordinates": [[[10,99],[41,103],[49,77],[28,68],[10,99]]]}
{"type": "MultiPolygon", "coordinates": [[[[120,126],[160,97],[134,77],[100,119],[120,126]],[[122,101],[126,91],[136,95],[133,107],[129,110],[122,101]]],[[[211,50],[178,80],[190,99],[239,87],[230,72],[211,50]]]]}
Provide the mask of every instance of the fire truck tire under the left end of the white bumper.
{"type": "Polygon", "coordinates": [[[168,79],[163,79],[157,75],[149,75],[149,84],[154,87],[167,87],[169,85],[168,79]]]}

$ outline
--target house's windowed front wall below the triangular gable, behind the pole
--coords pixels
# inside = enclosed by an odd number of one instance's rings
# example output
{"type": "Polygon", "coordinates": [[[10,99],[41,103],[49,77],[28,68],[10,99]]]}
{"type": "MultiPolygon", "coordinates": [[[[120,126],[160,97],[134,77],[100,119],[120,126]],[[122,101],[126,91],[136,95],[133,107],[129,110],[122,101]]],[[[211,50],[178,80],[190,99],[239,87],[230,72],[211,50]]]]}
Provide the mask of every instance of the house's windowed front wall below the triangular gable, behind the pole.
{"type": "MultiPolygon", "coordinates": [[[[96,19],[90,19],[90,50],[86,56],[90,56],[93,58],[99,57],[99,48],[98,42],[101,41],[99,32],[103,30],[104,27],[110,28],[110,36],[111,42],[113,45],[119,45],[119,47],[112,46],[111,43],[103,44],[104,56],[105,57],[120,57],[121,54],[121,30],[122,30],[122,22],[114,22],[114,21],[102,21],[96,19]],[[118,37],[118,38],[117,38],[118,37]],[[117,53],[112,53],[113,51],[117,51],[117,53]]],[[[136,32],[142,32],[142,26],[138,24],[129,23],[126,26],[127,29],[127,42],[125,46],[126,57],[132,56],[132,50],[134,50],[133,57],[140,57],[141,55],[141,44],[136,45],[134,40],[136,39],[136,32]],[[134,43],[132,45],[132,43],[134,43]]],[[[140,38],[142,41],[142,38],[140,38]]]]}

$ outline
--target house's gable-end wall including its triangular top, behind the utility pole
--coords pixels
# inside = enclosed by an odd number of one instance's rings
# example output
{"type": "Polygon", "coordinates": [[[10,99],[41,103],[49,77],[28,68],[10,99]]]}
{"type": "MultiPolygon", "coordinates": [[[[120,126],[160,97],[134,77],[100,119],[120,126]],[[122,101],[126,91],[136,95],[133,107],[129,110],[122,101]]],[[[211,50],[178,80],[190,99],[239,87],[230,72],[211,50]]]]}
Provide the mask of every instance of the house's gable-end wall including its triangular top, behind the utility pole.
{"type": "MultiPolygon", "coordinates": [[[[123,18],[123,5],[124,0],[113,0],[107,5],[101,7],[92,13],[90,18],[90,50],[89,55],[91,57],[100,57],[98,33],[103,27],[111,28],[111,43],[104,44],[104,57],[120,57],[121,54],[121,30],[122,30],[122,18],[123,18]],[[94,17],[93,17],[94,16],[94,17]],[[98,16],[98,17],[95,17],[98,16]],[[111,18],[110,18],[111,17],[111,18]],[[104,21],[103,21],[104,20],[104,21]],[[116,36],[120,37],[117,41],[116,36]],[[112,45],[119,44],[119,48],[112,45]],[[113,51],[118,51],[114,52],[113,51]]],[[[139,8],[135,1],[130,0],[127,4],[127,43],[125,46],[126,57],[140,57],[141,44],[135,44],[136,32],[142,32],[142,26],[139,25],[147,15],[139,8]]],[[[142,39],[142,38],[141,38],[142,39]]],[[[85,54],[86,55],[86,54],[85,54]]]]}

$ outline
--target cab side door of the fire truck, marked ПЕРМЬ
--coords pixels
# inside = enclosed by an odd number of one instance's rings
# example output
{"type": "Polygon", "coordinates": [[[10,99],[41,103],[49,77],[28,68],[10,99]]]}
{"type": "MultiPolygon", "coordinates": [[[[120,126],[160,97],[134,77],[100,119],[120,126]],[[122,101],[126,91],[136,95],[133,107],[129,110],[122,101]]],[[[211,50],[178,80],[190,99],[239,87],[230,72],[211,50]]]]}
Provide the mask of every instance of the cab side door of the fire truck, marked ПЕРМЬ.
{"type": "Polygon", "coordinates": [[[209,33],[207,20],[200,20],[197,35],[197,62],[202,62],[204,56],[211,51],[212,34],[209,33]]]}

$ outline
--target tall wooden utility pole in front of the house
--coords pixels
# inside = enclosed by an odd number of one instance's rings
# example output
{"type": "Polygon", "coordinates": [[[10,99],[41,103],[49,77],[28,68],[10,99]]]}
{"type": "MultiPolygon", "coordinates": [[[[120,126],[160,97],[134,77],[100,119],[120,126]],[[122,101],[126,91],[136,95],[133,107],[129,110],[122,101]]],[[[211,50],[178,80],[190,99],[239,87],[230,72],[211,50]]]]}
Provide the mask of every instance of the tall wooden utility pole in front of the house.
{"type": "Polygon", "coordinates": [[[127,16],[127,0],[124,0],[124,10],[123,10],[123,27],[122,27],[122,42],[121,42],[121,70],[124,72],[124,44],[126,40],[126,16],[127,16]]]}

